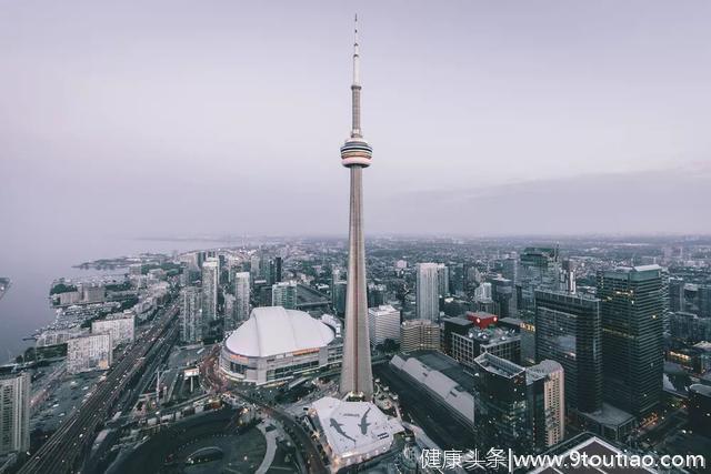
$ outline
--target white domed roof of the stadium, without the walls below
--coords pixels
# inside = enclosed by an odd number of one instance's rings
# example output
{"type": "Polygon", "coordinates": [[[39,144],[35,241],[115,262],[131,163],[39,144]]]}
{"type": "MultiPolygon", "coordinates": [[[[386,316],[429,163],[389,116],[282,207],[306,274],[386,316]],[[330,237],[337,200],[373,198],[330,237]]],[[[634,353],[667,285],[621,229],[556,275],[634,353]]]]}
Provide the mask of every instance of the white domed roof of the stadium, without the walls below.
{"type": "Polygon", "coordinates": [[[303,311],[281,306],[254,307],[224,342],[226,347],[249,357],[317,349],[333,341],[333,331],[303,311]]]}

